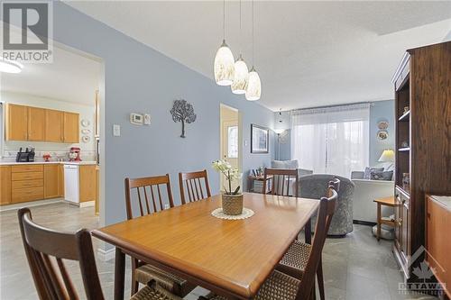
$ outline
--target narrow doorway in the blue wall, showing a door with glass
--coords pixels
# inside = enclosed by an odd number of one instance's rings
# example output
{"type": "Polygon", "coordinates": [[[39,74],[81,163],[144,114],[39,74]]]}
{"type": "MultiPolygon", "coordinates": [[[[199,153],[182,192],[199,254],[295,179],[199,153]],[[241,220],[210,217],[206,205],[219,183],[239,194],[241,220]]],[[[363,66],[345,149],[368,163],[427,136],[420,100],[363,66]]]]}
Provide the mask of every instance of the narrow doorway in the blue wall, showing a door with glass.
{"type": "MultiPolygon", "coordinates": [[[[242,117],[238,109],[221,104],[219,107],[220,120],[220,158],[226,159],[233,168],[243,172],[243,128],[242,117]]],[[[224,191],[226,178],[220,175],[220,189],[224,191]]],[[[243,178],[232,183],[232,190],[241,186],[243,191],[243,178]]]]}

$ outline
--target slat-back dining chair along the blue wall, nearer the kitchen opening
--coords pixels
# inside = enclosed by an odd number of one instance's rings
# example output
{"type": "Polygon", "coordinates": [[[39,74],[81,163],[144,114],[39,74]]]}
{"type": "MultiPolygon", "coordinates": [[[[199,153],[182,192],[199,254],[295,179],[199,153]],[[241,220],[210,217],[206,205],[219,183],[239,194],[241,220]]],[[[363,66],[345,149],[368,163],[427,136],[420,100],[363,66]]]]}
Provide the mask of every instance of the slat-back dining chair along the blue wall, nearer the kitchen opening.
{"type": "MultiPolygon", "coordinates": [[[[133,219],[133,198],[139,206],[141,216],[174,207],[169,174],[155,177],[125,178],[125,207],[128,220],[133,219]],[[163,188],[166,186],[166,201],[163,193],[161,193],[160,186],[163,186],[163,188]]],[[[139,259],[132,258],[132,295],[136,293],[140,283],[146,285],[151,280],[156,280],[159,285],[181,297],[188,295],[196,287],[187,280],[163,271],[161,268],[153,267],[139,259]]]]}

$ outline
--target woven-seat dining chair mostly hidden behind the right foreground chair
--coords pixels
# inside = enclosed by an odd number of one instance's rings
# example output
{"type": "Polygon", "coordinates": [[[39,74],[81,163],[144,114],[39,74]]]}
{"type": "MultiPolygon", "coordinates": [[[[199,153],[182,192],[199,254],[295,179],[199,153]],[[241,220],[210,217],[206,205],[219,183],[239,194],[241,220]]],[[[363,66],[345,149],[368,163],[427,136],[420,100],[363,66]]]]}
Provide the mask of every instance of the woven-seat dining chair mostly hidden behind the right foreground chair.
{"type": "MultiPolygon", "coordinates": [[[[331,197],[333,195],[333,192],[336,191],[337,193],[339,189],[340,189],[340,179],[335,178],[334,180],[331,180],[327,188],[327,197],[331,197]]],[[[332,217],[327,219],[326,232],[329,231],[331,221],[332,217]]],[[[312,246],[310,244],[302,241],[294,241],[291,244],[287,253],[285,253],[283,258],[279,262],[279,265],[276,267],[276,269],[292,277],[302,276],[302,273],[304,272],[307,266],[308,256],[310,255],[311,250],[312,246]]],[[[320,259],[317,270],[318,290],[320,299],[325,300],[322,265],[323,265],[322,259],[320,259]]]]}

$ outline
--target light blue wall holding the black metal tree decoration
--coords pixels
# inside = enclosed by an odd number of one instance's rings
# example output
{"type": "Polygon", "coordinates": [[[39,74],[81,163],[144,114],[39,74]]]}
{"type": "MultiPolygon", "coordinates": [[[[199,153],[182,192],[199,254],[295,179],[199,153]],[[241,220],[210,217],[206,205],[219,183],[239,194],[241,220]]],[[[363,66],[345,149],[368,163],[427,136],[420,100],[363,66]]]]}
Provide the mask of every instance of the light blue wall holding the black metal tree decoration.
{"type": "MultiPolygon", "coordinates": [[[[175,202],[179,204],[178,172],[207,168],[213,194],[219,176],[210,167],[219,159],[219,105],[235,107],[243,114],[243,169],[269,166],[273,157],[273,133],[269,154],[250,153],[251,123],[273,127],[273,112],[234,95],[230,87],[216,86],[208,77],[187,68],[157,50],[124,35],[69,5],[54,2],[53,37],[76,50],[91,53],[105,63],[105,223],[125,220],[124,177],[170,174],[175,202]],[[170,116],[173,100],[194,105],[198,119],[187,124],[186,139],[179,138],[181,124],[170,116]],[[129,122],[132,112],[152,115],[151,126],[129,122]],[[113,124],[121,136],[113,137],[113,124]]],[[[218,43],[220,41],[218,40],[218,43]]],[[[216,49],[211,50],[212,53],[216,49]]],[[[213,68],[213,61],[211,61],[213,68]]],[[[76,84],[76,83],[74,83],[76,84]]],[[[246,188],[244,177],[244,189],[246,188]]],[[[101,218],[101,220],[103,219],[101,218]]]]}

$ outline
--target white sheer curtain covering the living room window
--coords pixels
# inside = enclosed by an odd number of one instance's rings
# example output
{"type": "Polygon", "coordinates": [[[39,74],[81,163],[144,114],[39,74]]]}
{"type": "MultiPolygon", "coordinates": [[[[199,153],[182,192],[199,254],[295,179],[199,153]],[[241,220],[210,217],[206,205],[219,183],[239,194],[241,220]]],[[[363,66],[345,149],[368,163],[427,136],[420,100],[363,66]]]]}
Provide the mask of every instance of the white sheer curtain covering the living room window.
{"type": "Polygon", "coordinates": [[[314,173],[350,177],[369,160],[370,105],[341,105],[291,114],[291,159],[314,173]]]}

